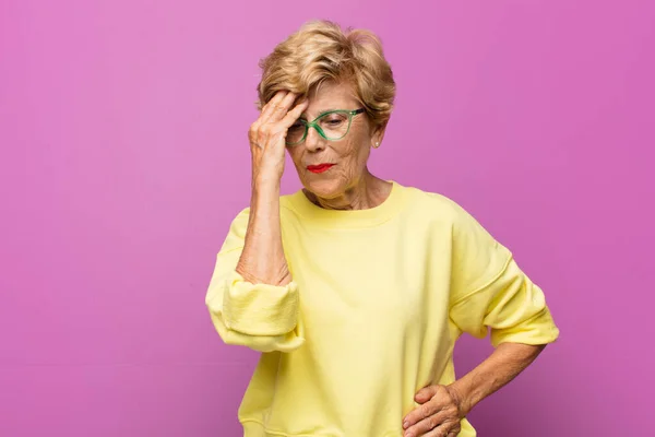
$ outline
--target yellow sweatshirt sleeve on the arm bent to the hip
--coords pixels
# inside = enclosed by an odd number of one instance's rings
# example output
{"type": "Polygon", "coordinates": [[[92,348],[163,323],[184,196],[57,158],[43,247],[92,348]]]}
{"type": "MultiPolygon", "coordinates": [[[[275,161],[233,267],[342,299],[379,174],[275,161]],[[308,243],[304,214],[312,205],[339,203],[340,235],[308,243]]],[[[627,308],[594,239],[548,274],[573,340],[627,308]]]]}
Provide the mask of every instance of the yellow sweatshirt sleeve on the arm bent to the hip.
{"type": "Polygon", "coordinates": [[[547,344],[557,340],[544,292],[519,268],[508,248],[456,206],[450,318],[463,332],[491,343],[547,344]]]}

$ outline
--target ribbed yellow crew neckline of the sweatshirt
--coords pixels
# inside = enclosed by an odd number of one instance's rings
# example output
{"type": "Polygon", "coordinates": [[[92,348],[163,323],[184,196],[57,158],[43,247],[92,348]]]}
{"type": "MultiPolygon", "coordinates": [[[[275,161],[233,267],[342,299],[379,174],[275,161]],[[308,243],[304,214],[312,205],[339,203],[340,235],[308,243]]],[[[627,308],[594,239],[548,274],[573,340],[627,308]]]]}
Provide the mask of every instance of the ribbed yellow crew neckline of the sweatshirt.
{"type": "Polygon", "coordinates": [[[288,197],[289,206],[303,220],[303,224],[322,227],[372,227],[391,220],[403,205],[403,186],[394,180],[391,192],[377,206],[366,210],[327,210],[312,203],[302,189],[288,197]]]}

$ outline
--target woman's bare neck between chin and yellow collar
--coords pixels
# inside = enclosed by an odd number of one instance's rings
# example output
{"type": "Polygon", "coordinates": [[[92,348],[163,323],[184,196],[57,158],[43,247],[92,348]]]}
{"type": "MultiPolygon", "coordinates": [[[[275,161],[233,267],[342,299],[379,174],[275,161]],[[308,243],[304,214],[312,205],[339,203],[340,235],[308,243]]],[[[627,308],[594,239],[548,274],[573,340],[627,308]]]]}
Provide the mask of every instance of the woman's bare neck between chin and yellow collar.
{"type": "Polygon", "coordinates": [[[326,210],[368,210],[384,202],[391,192],[391,186],[366,169],[353,187],[336,198],[323,199],[308,191],[305,194],[312,203],[326,210]]]}

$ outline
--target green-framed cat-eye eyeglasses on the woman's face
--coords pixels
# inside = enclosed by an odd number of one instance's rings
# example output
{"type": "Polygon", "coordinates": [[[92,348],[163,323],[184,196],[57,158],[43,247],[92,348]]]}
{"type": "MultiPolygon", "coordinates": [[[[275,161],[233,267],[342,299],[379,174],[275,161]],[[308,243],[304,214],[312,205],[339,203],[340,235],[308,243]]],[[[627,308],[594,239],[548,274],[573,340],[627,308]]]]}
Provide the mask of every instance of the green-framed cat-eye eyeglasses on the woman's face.
{"type": "Polygon", "coordinates": [[[298,119],[287,130],[286,145],[298,145],[305,141],[309,128],[314,128],[325,140],[341,140],[350,130],[353,117],[364,111],[364,108],[355,110],[336,109],[321,114],[313,121],[298,119]]]}

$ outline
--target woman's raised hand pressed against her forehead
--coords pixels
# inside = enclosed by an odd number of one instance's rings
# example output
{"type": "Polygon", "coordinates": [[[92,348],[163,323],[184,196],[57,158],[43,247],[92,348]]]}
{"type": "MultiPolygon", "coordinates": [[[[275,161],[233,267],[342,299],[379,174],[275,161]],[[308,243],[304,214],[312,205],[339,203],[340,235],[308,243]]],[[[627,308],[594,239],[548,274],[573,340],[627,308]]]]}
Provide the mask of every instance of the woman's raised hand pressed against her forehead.
{"type": "Polygon", "coordinates": [[[279,182],[284,173],[287,130],[308,105],[305,99],[289,110],[297,97],[297,94],[286,91],[277,92],[250,126],[248,138],[252,154],[253,185],[261,181],[279,182]]]}

